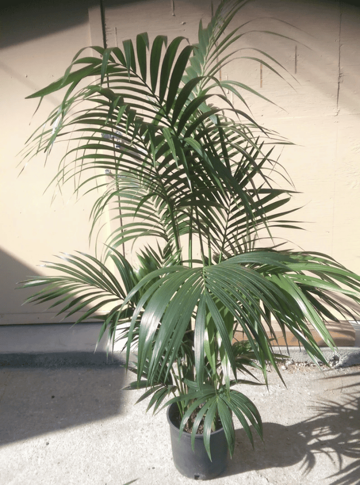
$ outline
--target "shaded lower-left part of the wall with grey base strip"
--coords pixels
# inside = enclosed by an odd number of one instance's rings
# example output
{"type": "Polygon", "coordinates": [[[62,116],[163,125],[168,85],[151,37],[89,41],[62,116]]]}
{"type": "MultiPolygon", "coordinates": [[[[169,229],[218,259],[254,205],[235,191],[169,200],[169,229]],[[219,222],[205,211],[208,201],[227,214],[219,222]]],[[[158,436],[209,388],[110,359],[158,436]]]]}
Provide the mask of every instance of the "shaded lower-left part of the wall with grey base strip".
{"type": "MultiPolygon", "coordinates": [[[[11,365],[10,354],[94,352],[101,322],[86,322],[73,326],[71,317],[56,316],[43,304],[23,304],[31,290],[16,288],[29,276],[41,276],[4,250],[0,250],[0,365],[11,365]]],[[[94,362],[106,362],[106,334],[100,341],[94,362]],[[99,356],[98,356],[99,354],[99,356]],[[102,354],[100,356],[100,354],[102,354]]],[[[13,364],[15,362],[13,361],[13,364]]]]}

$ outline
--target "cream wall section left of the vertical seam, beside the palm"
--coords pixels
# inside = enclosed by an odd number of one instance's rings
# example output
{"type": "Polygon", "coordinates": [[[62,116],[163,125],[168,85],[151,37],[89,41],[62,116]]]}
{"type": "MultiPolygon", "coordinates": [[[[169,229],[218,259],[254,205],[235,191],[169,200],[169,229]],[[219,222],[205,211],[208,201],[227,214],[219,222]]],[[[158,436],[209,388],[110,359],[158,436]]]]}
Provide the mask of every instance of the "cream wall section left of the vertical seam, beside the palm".
{"type": "Polygon", "coordinates": [[[91,44],[88,2],[21,2],[0,11],[0,324],[57,321],[54,311],[22,306],[24,291],[16,283],[45,274],[41,261],[60,252],[84,251],[88,245],[89,205],[76,201],[72,187],[45,189],[55,176],[61,152],[53,148],[45,164],[39,156],[25,168],[20,150],[26,139],[61,101],[25,97],[63,75],[75,53],[91,44]]]}

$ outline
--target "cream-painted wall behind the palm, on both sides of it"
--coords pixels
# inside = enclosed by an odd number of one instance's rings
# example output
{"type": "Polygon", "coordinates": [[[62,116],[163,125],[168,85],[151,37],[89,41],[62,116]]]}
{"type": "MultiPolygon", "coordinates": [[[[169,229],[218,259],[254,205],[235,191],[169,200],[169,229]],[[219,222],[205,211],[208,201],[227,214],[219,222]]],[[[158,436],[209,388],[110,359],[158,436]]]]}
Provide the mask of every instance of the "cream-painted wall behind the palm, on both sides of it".
{"type": "MultiPolygon", "coordinates": [[[[124,39],[142,31],[148,31],[150,39],[166,33],[169,39],[184,35],[195,42],[200,18],[204,24],[210,20],[210,0],[146,0],[121,6],[106,0],[104,4],[110,46],[121,46],[124,39]]],[[[43,195],[55,174],[57,152],[45,169],[44,158],[39,157],[20,177],[16,154],[60,101],[59,95],[45,100],[32,118],[37,101],[24,98],[61,76],[81,47],[101,43],[99,9],[97,2],[85,0],[32,5],[1,11],[1,324],[57,321],[51,312],[21,307],[24,292],[14,290],[16,281],[45,273],[37,267],[39,261],[51,260],[60,252],[94,252],[87,240],[91,201],[76,202],[71,187],[52,204],[52,191],[43,195]]],[[[257,20],[249,28],[273,30],[297,40],[254,32],[241,44],[275,57],[289,71],[284,77],[292,87],[266,67],[260,74],[259,64],[249,60],[239,59],[222,70],[223,77],[248,83],[277,103],[245,94],[255,119],[297,144],[284,147],[279,161],[301,192],[294,207],[303,206],[297,218],[307,221],[308,230],[279,232],[279,237],[328,253],[360,273],[356,213],[360,202],[360,9],[332,0],[254,0],[232,25],[251,19],[257,20]]],[[[251,53],[243,50],[241,55],[251,53]]]]}

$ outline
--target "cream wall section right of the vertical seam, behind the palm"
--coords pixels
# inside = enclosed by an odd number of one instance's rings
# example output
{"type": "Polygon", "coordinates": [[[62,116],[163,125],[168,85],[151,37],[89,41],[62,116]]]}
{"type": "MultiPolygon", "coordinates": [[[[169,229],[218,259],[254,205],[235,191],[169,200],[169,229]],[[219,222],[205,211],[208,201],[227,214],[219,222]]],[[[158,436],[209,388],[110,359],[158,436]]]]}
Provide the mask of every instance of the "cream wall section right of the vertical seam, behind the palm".
{"type": "MultiPolygon", "coordinates": [[[[165,33],[169,41],[183,35],[196,42],[200,17],[207,25],[211,12],[210,0],[124,5],[106,0],[105,7],[109,46],[122,46],[142,31],[150,41],[165,33]]],[[[360,8],[332,0],[254,0],[227,31],[245,23],[241,31],[247,33],[236,44],[239,57],[223,67],[221,76],[249,85],[274,103],[242,93],[255,120],[294,143],[277,153],[300,192],[291,206],[301,207],[295,218],[306,229],[279,229],[274,235],[290,240],[295,249],[329,254],[360,273],[360,8]],[[282,77],[245,57],[262,58],[282,77]]],[[[239,100],[235,106],[244,109],[239,100]]],[[[289,188],[281,178],[278,183],[289,188]]]]}

